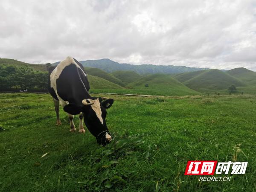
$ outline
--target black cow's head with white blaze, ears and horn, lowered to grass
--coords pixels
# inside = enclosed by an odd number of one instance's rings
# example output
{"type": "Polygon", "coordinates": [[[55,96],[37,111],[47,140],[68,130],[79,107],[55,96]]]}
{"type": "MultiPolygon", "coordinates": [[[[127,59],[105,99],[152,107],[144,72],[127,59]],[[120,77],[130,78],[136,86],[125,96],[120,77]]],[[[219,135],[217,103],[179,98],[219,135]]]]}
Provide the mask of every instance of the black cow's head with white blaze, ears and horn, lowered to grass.
{"type": "Polygon", "coordinates": [[[84,99],[81,105],[70,103],[64,107],[64,111],[72,115],[83,113],[84,123],[91,134],[96,137],[99,144],[106,145],[112,137],[106,125],[107,110],[113,104],[113,99],[102,97],[90,97],[84,99]]]}

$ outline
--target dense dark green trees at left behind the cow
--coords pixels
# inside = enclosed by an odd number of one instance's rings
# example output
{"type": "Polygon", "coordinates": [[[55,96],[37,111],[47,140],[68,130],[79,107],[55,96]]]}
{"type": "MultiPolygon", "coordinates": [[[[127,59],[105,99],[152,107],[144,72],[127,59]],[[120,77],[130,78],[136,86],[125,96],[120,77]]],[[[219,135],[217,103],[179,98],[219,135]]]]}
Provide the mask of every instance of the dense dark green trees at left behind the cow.
{"type": "Polygon", "coordinates": [[[48,73],[31,67],[0,65],[0,91],[47,91],[48,73]]]}

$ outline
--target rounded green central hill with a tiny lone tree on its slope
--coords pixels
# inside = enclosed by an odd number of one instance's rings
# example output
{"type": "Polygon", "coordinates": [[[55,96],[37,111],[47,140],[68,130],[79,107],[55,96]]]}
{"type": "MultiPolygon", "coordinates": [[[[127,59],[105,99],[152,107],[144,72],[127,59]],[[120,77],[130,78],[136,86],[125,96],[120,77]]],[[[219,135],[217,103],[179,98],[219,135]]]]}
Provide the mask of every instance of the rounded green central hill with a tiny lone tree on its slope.
{"type": "Polygon", "coordinates": [[[172,78],[171,75],[166,74],[154,74],[144,76],[141,79],[128,84],[128,87],[148,90],[149,92],[161,90],[159,93],[163,95],[192,95],[199,94],[197,91],[192,90],[176,79],[172,78]],[[145,87],[148,84],[148,87],[145,87]]]}

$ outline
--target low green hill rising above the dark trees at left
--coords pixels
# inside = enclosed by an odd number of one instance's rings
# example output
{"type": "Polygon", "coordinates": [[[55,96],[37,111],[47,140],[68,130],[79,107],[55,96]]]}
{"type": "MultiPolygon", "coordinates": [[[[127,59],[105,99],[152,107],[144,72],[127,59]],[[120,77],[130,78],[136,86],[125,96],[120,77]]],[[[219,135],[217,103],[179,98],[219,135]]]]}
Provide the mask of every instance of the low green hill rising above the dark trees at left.
{"type": "Polygon", "coordinates": [[[22,67],[22,66],[32,67],[33,69],[38,70],[38,71],[46,71],[47,70],[46,64],[29,64],[29,63],[17,61],[15,59],[8,59],[8,58],[0,58],[0,64],[12,65],[12,66],[17,66],[17,67],[22,67]]]}

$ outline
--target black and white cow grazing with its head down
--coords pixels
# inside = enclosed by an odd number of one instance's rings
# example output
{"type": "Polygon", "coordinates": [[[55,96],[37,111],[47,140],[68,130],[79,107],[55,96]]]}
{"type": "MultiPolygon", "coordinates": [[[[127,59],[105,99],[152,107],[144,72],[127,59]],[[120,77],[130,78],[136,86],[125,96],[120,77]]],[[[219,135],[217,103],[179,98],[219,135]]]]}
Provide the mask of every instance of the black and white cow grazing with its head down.
{"type": "Polygon", "coordinates": [[[91,134],[100,144],[112,140],[106,125],[106,109],[113,104],[113,99],[91,97],[90,85],[84,67],[76,59],[67,57],[57,67],[49,68],[49,93],[53,97],[57,116],[56,125],[61,125],[59,104],[70,119],[70,132],[76,132],[74,115],[79,114],[79,132],[85,133],[82,119],[91,134]]]}

